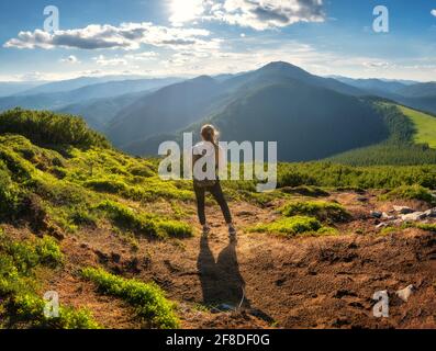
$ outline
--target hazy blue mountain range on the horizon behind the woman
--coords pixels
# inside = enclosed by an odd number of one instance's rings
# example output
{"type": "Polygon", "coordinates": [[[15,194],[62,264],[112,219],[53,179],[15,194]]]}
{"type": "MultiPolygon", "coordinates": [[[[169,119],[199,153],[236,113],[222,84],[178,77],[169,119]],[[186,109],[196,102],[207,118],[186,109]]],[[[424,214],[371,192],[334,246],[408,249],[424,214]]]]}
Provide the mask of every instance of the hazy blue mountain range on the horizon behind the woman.
{"type": "Polygon", "coordinates": [[[0,98],[0,111],[21,106],[80,115],[135,155],[155,155],[163,140],[211,122],[225,139],[277,140],[279,158],[287,161],[322,159],[389,138],[374,99],[436,113],[435,82],[324,78],[282,61],[189,80],[125,78],[15,87],[18,93],[0,98]]]}

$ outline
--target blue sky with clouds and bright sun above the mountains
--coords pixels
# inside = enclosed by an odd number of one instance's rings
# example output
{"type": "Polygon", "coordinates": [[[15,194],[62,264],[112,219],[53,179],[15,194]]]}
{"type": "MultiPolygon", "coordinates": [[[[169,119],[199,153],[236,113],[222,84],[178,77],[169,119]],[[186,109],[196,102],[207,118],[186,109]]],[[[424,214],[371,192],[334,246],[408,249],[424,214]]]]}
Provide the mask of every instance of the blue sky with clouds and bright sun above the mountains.
{"type": "Polygon", "coordinates": [[[198,76],[284,60],[317,75],[436,80],[434,0],[2,0],[0,80],[198,76]],[[376,5],[389,33],[372,30],[376,5]],[[56,5],[59,30],[44,32],[56,5]],[[433,14],[432,14],[432,10],[433,14]]]}

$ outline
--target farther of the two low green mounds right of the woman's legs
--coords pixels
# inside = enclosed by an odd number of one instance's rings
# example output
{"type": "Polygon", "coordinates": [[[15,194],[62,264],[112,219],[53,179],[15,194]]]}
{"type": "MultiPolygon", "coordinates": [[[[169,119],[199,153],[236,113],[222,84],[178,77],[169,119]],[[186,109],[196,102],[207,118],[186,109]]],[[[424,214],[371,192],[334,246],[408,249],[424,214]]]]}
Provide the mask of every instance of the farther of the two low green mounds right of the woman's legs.
{"type": "Polygon", "coordinates": [[[332,223],[346,222],[351,217],[340,204],[325,201],[290,202],[280,211],[287,217],[305,215],[332,223]]]}

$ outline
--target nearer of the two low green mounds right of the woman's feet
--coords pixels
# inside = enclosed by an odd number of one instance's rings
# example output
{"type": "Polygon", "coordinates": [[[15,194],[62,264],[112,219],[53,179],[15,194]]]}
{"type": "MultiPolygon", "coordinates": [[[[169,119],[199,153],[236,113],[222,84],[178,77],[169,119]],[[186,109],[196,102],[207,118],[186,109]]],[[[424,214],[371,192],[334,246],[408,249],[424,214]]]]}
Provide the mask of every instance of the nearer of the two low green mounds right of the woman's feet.
{"type": "Polygon", "coordinates": [[[281,218],[269,224],[259,224],[249,229],[255,233],[273,233],[282,236],[335,234],[335,229],[324,227],[320,220],[308,216],[281,218]]]}

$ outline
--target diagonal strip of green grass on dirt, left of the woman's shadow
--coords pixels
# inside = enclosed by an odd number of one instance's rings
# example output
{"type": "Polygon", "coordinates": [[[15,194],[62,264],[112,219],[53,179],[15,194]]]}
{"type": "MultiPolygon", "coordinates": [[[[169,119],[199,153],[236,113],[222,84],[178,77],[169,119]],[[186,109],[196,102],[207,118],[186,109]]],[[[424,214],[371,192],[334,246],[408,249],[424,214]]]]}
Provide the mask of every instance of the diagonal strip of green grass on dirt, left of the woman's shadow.
{"type": "Polygon", "coordinates": [[[156,284],[123,279],[93,268],[83,269],[82,275],[96,283],[103,294],[120,297],[132,305],[148,327],[160,329],[179,327],[174,305],[165,298],[164,292],[156,284]]]}

